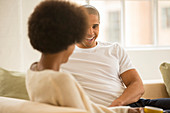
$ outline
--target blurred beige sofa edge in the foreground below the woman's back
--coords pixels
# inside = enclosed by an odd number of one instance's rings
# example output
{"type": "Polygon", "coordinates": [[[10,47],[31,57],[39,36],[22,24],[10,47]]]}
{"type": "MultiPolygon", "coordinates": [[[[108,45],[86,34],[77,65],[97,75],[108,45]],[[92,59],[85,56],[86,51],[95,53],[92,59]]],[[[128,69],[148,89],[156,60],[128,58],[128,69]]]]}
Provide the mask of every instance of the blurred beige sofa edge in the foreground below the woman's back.
{"type": "Polygon", "coordinates": [[[28,100],[0,97],[0,113],[88,113],[71,107],[52,106],[28,100]]]}

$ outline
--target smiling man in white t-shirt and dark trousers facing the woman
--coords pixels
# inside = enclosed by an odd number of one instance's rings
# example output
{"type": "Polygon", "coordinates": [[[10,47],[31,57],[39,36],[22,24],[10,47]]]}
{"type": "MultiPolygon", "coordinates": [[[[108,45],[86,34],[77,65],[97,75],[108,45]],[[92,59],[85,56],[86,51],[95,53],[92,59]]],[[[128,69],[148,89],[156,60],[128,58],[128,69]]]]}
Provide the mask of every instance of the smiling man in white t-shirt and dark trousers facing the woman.
{"type": "Polygon", "coordinates": [[[86,38],[78,43],[62,70],[70,72],[85,89],[90,99],[105,106],[155,106],[170,109],[170,99],[140,99],[144,93],[142,80],[125,50],[117,43],[96,41],[100,15],[90,5],[89,29],[86,38]]]}

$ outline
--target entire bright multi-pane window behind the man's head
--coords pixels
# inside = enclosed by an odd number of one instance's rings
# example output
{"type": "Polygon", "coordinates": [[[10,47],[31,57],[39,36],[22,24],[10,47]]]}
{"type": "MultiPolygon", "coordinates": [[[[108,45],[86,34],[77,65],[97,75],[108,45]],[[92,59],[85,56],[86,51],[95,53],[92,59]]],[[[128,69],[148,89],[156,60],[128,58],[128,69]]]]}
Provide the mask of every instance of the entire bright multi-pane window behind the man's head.
{"type": "Polygon", "coordinates": [[[125,47],[170,47],[169,0],[74,1],[99,10],[98,40],[119,42],[125,47]]]}

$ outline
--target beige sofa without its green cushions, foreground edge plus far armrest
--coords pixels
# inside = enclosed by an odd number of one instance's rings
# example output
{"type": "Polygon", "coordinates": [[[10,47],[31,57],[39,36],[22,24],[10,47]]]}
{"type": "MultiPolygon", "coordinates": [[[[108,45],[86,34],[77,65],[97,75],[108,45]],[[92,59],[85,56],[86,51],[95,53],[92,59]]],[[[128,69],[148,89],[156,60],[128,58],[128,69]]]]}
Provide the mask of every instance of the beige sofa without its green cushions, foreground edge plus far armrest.
{"type": "MultiPolygon", "coordinates": [[[[143,98],[169,98],[162,82],[144,83],[143,98]]],[[[0,113],[88,113],[85,110],[59,107],[24,99],[0,97],[0,113]]]]}

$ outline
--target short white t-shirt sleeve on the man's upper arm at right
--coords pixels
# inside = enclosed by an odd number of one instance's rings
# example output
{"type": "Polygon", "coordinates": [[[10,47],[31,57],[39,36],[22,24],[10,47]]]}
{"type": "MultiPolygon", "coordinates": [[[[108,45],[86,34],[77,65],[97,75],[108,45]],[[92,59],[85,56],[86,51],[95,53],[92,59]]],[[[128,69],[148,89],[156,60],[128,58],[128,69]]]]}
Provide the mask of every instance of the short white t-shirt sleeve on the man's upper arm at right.
{"type": "Polygon", "coordinates": [[[124,73],[125,71],[135,68],[127,52],[119,44],[117,44],[117,55],[119,60],[119,75],[124,73]]]}

